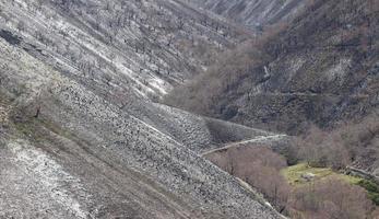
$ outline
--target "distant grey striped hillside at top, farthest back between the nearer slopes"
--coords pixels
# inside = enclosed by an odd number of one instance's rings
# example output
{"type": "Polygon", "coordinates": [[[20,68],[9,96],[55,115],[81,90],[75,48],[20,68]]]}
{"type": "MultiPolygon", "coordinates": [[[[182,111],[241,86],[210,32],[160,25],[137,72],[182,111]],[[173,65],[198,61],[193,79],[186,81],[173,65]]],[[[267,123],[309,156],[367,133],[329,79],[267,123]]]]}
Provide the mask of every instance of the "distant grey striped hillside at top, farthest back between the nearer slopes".
{"type": "Polygon", "coordinates": [[[252,30],[292,20],[306,0],[191,0],[197,5],[252,30]]]}

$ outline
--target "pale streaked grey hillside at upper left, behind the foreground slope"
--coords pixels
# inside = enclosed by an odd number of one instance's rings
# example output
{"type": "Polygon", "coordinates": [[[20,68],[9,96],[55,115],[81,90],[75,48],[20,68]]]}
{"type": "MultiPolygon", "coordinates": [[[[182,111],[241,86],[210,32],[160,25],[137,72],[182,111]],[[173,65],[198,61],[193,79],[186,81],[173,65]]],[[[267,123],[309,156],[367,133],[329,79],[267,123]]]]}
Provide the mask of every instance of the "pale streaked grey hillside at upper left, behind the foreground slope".
{"type": "Polygon", "coordinates": [[[117,83],[119,77],[95,71],[121,72],[142,94],[165,94],[237,35],[177,1],[3,2],[3,36],[16,33],[31,51],[55,56],[61,68],[74,66],[78,78],[117,83]]]}

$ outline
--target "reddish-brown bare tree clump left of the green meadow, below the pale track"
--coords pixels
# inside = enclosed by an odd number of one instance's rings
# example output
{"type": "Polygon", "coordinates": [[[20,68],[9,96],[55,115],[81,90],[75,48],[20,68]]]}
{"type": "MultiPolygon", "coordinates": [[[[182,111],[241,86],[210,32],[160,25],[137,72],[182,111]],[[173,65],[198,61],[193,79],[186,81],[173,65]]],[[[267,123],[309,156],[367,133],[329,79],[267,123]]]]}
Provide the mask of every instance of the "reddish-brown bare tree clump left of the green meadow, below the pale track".
{"type": "Polygon", "coordinates": [[[285,210],[291,189],[280,174],[280,170],[287,165],[282,155],[262,146],[232,148],[211,153],[208,159],[257,188],[279,211],[285,210]]]}

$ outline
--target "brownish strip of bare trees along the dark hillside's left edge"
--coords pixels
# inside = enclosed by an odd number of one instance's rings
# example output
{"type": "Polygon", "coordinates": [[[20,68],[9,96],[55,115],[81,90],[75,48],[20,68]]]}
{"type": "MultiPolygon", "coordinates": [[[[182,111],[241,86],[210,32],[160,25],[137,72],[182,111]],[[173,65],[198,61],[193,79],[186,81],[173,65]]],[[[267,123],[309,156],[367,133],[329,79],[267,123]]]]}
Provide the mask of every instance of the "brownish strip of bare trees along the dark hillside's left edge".
{"type": "Polygon", "coordinates": [[[210,68],[189,83],[176,88],[165,96],[164,102],[202,115],[214,116],[216,112],[213,112],[212,106],[217,103],[221,94],[233,90],[234,84],[247,73],[271,60],[272,57],[263,50],[263,46],[284,27],[285,25],[277,24],[261,37],[220,54],[210,68]]]}

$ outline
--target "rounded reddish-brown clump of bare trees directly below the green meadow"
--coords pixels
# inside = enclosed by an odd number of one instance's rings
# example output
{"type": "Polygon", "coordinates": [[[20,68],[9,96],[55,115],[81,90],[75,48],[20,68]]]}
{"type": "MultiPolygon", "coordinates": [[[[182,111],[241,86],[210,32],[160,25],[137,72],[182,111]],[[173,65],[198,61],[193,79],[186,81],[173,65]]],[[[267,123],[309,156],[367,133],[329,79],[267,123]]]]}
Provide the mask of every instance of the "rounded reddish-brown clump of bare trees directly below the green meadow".
{"type": "Polygon", "coordinates": [[[339,178],[295,188],[288,206],[294,219],[365,219],[372,210],[364,188],[339,178]]]}

